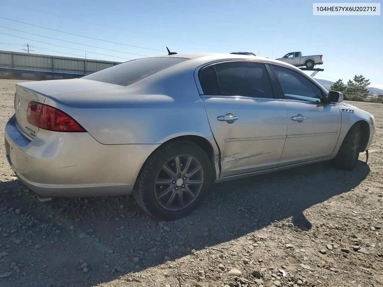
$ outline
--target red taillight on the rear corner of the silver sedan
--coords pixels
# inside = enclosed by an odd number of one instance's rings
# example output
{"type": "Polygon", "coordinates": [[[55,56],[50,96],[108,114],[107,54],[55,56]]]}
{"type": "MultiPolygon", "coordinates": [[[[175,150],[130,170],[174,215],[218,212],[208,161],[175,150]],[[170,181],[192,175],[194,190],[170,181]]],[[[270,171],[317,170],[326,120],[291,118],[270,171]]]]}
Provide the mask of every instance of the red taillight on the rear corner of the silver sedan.
{"type": "Polygon", "coordinates": [[[29,124],[39,127],[40,129],[55,132],[86,131],[78,122],[72,119],[72,117],[46,104],[29,102],[26,118],[29,124]]]}

